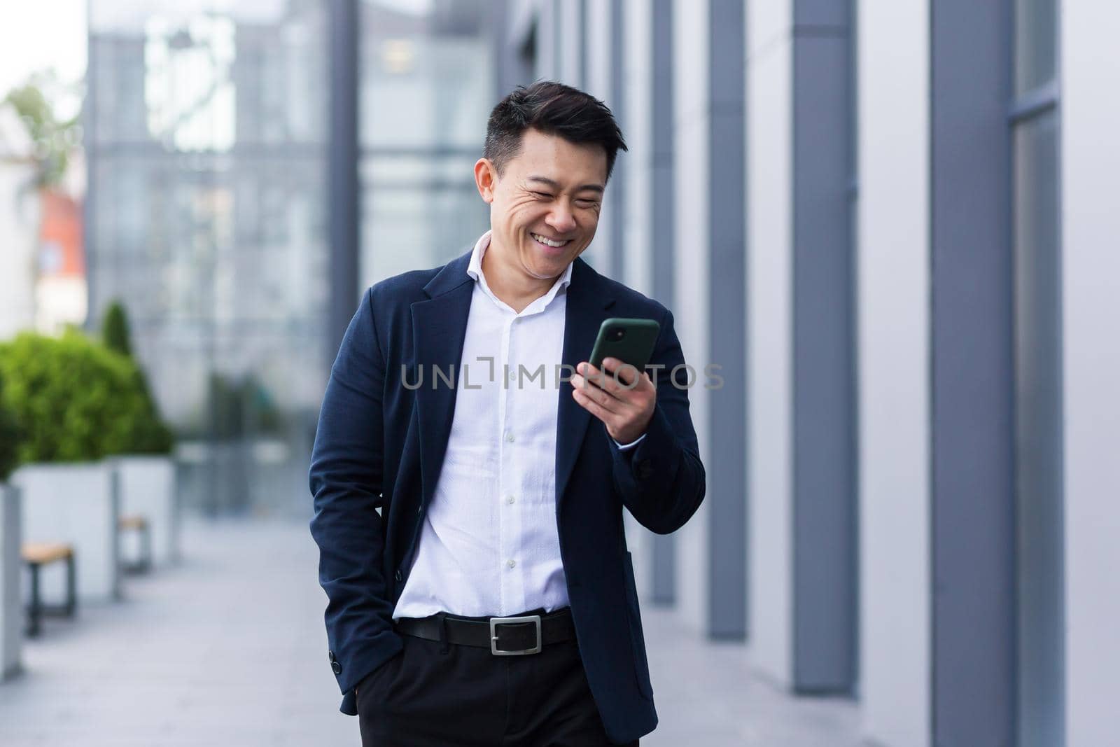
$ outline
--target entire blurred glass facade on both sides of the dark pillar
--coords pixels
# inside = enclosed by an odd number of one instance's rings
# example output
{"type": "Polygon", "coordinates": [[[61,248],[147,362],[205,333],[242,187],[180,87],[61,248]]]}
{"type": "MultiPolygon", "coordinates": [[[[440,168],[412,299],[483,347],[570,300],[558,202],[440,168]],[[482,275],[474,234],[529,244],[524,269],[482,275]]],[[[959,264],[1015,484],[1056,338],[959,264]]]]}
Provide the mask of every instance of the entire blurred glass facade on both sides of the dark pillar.
{"type": "MultiPolygon", "coordinates": [[[[360,278],[440,264],[489,225],[485,0],[355,0],[360,278]]],[[[334,349],[327,0],[91,0],[91,323],[123,299],[188,502],[306,510],[334,349]]],[[[355,299],[356,301],[356,299],[355,299]]]]}

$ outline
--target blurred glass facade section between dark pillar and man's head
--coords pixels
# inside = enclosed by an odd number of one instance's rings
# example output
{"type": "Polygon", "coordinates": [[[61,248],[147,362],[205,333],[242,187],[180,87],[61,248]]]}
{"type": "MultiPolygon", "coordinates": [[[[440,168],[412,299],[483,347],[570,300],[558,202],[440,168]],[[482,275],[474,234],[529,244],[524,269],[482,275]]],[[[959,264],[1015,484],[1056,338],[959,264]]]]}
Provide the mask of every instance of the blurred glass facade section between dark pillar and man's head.
{"type": "Polygon", "coordinates": [[[436,267],[489,227],[474,183],[495,100],[497,3],[361,6],[361,287],[436,267]]]}

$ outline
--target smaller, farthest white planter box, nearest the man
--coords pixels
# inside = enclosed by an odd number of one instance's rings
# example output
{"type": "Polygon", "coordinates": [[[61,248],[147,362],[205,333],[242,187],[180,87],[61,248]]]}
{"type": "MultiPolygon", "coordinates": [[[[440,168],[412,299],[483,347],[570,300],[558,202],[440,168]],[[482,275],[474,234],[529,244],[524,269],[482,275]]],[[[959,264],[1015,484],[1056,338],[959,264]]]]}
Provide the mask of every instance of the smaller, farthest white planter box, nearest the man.
{"type": "MultiPolygon", "coordinates": [[[[121,514],[140,514],[148,520],[151,554],[156,566],[179,559],[179,502],[175,460],[170,457],[120,457],[116,470],[121,486],[121,514]]],[[[129,560],[139,557],[139,538],[128,532],[121,552],[129,560]]]]}

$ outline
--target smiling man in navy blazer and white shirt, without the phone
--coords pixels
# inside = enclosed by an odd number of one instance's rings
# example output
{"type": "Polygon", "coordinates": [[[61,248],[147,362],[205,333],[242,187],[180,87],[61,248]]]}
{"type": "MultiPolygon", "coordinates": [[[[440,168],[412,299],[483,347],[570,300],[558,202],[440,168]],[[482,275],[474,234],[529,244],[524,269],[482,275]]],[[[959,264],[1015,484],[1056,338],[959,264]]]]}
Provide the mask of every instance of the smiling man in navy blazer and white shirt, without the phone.
{"type": "Polygon", "coordinates": [[[517,88],[475,164],[491,231],[367,290],[346,330],[310,529],[363,745],[636,745],[657,723],[622,512],[673,532],[704,471],[672,316],[578,259],[619,148],[601,102],[517,88]],[[661,324],[660,385],[587,364],[609,317],[661,324]]]}

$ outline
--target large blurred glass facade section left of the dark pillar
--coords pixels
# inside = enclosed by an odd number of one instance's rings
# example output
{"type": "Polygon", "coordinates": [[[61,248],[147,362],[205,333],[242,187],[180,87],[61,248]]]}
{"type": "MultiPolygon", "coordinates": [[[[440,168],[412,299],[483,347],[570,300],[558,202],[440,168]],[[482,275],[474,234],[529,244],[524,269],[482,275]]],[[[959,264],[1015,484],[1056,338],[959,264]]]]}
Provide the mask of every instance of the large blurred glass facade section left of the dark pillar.
{"type": "Polygon", "coordinates": [[[91,3],[91,321],[125,302],[188,499],[306,503],[329,360],[326,3],[137,4],[91,3]]]}

